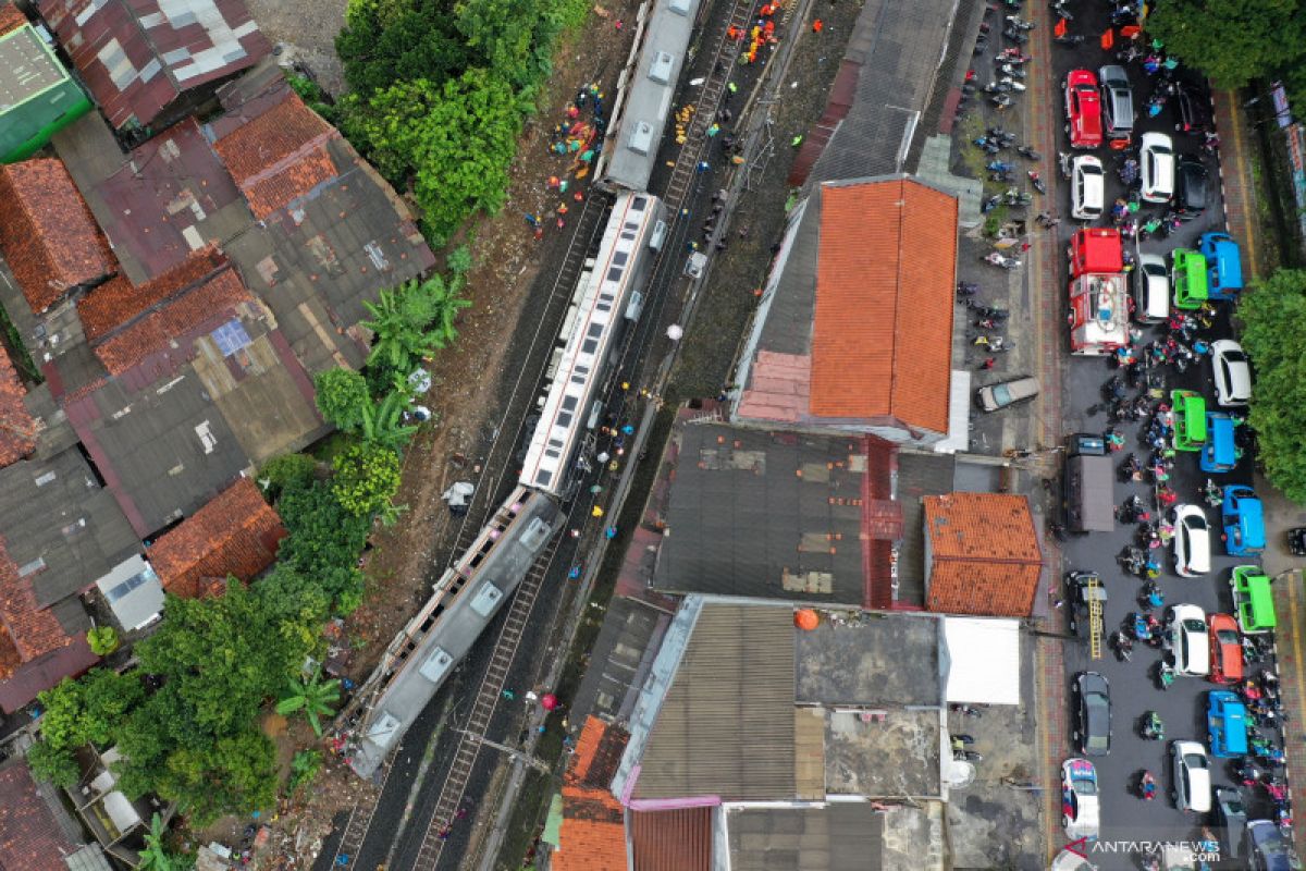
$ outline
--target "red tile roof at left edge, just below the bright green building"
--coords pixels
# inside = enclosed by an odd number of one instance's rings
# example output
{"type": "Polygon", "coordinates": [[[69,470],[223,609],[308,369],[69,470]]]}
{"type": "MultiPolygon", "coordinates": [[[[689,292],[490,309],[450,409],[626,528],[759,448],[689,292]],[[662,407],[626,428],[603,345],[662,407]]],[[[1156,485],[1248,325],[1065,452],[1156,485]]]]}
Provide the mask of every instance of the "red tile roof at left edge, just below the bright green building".
{"type": "Polygon", "coordinates": [[[104,236],[61,161],[0,166],[0,251],[31,311],[118,270],[104,236]]]}

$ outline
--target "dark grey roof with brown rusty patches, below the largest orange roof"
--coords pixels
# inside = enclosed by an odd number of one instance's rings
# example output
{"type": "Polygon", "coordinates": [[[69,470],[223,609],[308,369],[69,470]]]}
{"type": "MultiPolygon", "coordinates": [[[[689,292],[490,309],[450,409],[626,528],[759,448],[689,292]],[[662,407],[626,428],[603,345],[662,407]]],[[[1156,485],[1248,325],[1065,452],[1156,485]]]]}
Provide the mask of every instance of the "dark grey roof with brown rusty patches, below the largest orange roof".
{"type": "Polygon", "coordinates": [[[863,602],[859,437],[724,423],[678,437],[656,589],[863,602]]]}

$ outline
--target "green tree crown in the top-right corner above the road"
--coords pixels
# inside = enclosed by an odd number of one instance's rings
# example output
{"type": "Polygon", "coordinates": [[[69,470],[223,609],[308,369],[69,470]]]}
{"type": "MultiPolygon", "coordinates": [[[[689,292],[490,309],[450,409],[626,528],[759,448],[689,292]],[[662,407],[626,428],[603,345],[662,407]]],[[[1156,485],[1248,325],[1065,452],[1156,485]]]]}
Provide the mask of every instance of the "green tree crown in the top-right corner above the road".
{"type": "Polygon", "coordinates": [[[1147,31],[1225,89],[1306,57],[1301,0],[1166,0],[1148,17],[1147,31]]]}

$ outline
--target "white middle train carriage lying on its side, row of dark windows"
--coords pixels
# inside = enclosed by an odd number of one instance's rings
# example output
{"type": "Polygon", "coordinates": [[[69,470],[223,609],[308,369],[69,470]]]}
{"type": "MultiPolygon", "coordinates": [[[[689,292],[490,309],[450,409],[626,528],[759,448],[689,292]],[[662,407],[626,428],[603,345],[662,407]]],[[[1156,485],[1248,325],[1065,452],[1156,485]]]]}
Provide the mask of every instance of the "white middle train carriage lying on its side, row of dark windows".
{"type": "Polygon", "coordinates": [[[640,315],[640,291],[665,236],[661,200],[648,193],[616,197],[598,255],[581,272],[558,334],[518,478],[524,487],[567,495],[579,448],[602,417],[603,381],[624,324],[640,315]]]}

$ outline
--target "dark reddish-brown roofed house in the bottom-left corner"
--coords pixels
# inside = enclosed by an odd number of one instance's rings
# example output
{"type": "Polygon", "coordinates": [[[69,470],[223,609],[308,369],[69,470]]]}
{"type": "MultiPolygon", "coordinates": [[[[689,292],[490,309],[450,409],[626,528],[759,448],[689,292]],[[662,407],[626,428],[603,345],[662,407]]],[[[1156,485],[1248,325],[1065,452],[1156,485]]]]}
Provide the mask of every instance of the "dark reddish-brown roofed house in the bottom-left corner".
{"type": "Polygon", "coordinates": [[[84,845],[52,789],[22,760],[0,767],[0,868],[110,871],[98,845],[84,845]]]}

